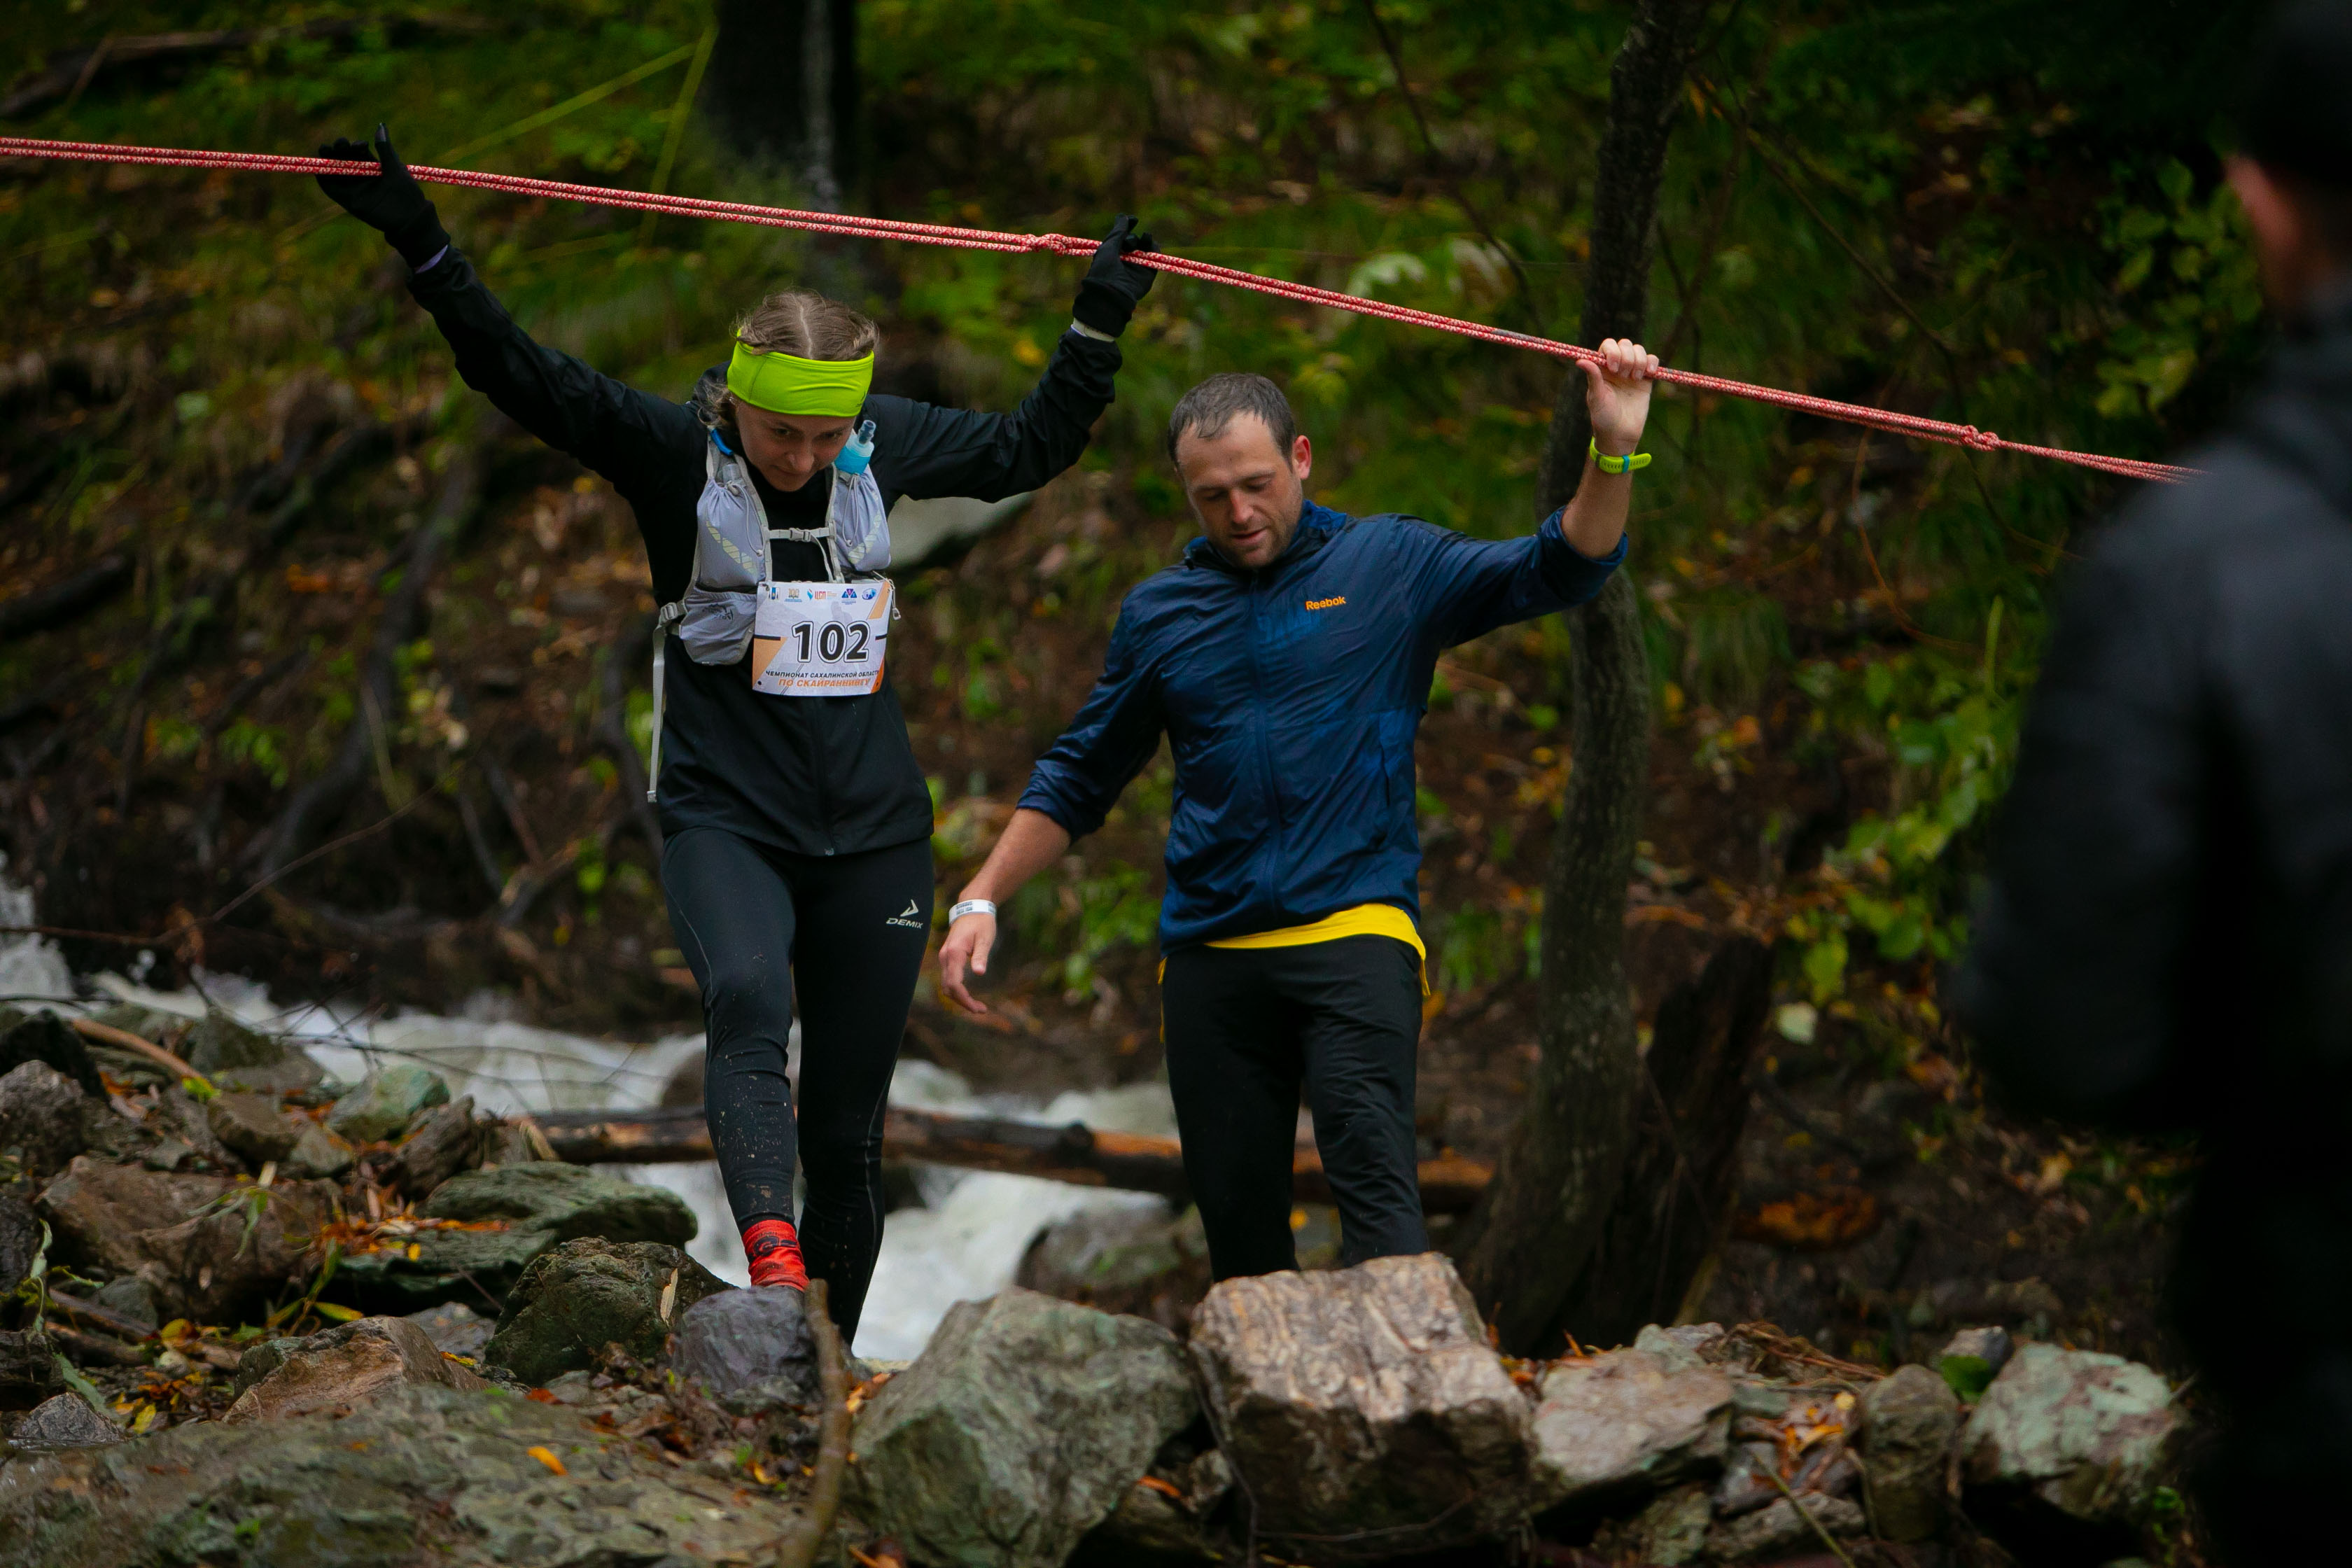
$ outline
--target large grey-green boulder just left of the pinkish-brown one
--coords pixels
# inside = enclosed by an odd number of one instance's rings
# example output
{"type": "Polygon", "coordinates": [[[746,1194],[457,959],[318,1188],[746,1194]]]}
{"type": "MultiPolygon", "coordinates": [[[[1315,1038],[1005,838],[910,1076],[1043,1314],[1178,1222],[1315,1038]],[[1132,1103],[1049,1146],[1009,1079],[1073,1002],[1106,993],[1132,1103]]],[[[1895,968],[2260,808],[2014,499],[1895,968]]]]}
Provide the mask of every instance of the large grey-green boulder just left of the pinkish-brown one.
{"type": "Polygon", "coordinates": [[[1061,1568],[1197,1418],[1167,1328],[1004,1291],[858,1415],[849,1500],[917,1563],[1061,1568]]]}

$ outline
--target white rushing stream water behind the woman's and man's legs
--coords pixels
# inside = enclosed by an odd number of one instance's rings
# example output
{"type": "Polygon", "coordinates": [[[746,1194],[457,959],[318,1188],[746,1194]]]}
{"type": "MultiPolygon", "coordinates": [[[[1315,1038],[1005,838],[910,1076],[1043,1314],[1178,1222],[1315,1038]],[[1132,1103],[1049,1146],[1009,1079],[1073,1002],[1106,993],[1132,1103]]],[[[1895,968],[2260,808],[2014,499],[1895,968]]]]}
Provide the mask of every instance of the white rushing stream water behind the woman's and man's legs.
{"type": "MultiPolygon", "coordinates": [[[[0,860],[5,872],[5,860],[0,860]]],[[[33,924],[33,896],[0,879],[0,924],[33,924]]],[[[143,966],[134,966],[143,973],[143,966]]],[[[334,1077],[358,1081],[374,1065],[419,1063],[449,1081],[452,1095],[473,1095],[489,1114],[543,1110],[604,1110],[654,1105],[677,1067],[703,1051],[701,1034],[670,1034],[623,1044],[515,1023],[501,999],[482,997],[459,1016],[372,1016],[336,1004],[278,1006],[268,990],[240,976],[198,971],[195,985],[174,992],[143,987],[120,973],[89,976],[85,992],[103,1001],[134,1001],[160,1013],[202,1018],[219,1006],[275,1034],[289,1034],[334,1077]]],[[[73,973],[54,945],[0,938],[0,997],[75,994],[73,973]]],[[[797,1037],[795,1030],[797,1070],[797,1037]]],[[[797,1074],[795,1074],[797,1077],[797,1074]]],[[[1035,1119],[1049,1126],[1084,1121],[1094,1128],[1174,1135],[1176,1112],[1164,1084],[1073,1091],[1049,1103],[976,1095],[931,1063],[906,1060],[891,1079],[891,1105],[913,1110],[1035,1119]]],[[[687,1251],[729,1284],[748,1284],[743,1248],[717,1166],[621,1166],[630,1180],[668,1187],[699,1222],[687,1251]]],[[[882,1258],[858,1326],[856,1352],[908,1359],[922,1352],[948,1307],[995,1295],[1011,1284],[1021,1253],[1047,1225],[1087,1211],[1157,1206],[1136,1192],[1073,1187],[1028,1175],[922,1166],[922,1208],[901,1208],[882,1232],[882,1258]]]]}

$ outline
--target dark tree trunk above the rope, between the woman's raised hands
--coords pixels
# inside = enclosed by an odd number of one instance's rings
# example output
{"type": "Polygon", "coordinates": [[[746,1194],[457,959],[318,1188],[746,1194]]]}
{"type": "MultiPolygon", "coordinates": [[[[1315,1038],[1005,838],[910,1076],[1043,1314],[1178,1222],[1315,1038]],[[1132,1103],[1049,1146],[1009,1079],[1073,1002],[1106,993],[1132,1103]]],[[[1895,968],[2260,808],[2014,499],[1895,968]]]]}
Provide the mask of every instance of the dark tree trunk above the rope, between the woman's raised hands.
{"type": "Polygon", "coordinates": [[[856,0],[720,0],[706,101],[734,153],[793,172],[840,212],[856,179],[856,0]]]}

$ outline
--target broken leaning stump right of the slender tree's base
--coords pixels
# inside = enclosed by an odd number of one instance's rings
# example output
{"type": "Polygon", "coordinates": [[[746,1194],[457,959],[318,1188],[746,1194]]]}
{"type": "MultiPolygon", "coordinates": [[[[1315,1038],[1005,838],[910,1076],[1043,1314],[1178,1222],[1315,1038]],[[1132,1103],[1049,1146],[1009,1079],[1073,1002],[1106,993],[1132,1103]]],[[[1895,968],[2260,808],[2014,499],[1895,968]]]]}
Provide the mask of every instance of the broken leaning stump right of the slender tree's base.
{"type": "Polygon", "coordinates": [[[1771,1009],[1771,950],[1733,936],[1658,1004],[1639,1063],[1632,1152],[1616,1206],[1550,1333],[1623,1345],[1672,1324],[1722,1244],[1748,1128],[1748,1058],[1771,1009]]]}

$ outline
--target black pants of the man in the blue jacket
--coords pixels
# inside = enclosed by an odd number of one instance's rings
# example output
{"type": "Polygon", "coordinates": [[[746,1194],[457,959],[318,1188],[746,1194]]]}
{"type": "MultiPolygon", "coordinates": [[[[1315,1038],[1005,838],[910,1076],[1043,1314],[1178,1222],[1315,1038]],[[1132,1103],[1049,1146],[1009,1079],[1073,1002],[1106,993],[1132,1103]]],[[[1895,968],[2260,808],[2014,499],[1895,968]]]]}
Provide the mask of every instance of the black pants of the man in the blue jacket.
{"type": "Polygon", "coordinates": [[[1392,936],[1185,947],[1160,980],[1183,1173],[1218,1279],[1296,1269],[1291,1150],[1315,1114],[1341,1262],[1430,1251],[1414,1147],[1421,954],[1392,936]]]}

